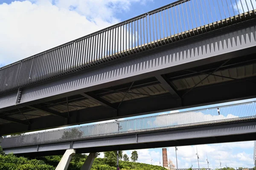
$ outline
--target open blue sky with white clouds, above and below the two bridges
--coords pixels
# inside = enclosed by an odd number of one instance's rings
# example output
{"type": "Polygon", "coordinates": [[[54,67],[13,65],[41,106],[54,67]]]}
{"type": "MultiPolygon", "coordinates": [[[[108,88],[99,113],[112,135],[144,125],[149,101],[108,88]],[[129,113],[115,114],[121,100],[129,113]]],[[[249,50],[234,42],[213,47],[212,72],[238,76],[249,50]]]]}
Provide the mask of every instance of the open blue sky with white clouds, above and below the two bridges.
{"type": "MultiPolygon", "coordinates": [[[[0,67],[172,2],[174,0],[0,0],[0,67]]],[[[201,167],[207,167],[206,153],[210,168],[219,167],[219,158],[223,166],[227,163],[230,167],[253,167],[252,141],[197,147],[201,167]]],[[[178,149],[179,168],[188,168],[191,162],[197,167],[195,146],[178,149]]],[[[175,149],[167,150],[168,157],[175,163],[175,149]]],[[[131,155],[131,151],[125,152],[131,155]]],[[[160,159],[162,165],[161,148],[138,152],[138,161],[151,164],[152,158],[152,163],[159,165],[160,159]]]]}

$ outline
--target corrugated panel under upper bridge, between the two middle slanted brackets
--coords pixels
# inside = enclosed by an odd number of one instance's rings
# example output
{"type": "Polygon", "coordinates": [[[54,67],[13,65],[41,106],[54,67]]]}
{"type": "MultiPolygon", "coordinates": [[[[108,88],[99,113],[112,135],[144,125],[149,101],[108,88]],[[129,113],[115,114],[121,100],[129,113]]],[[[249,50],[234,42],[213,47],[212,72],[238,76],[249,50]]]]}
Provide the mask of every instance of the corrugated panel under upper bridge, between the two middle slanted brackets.
{"type": "Polygon", "coordinates": [[[110,95],[105,95],[102,98],[105,100],[111,102],[111,103],[116,103],[122,101],[122,98],[124,98],[124,101],[135,99],[135,98],[143,98],[147,97],[147,95],[159,95],[162,93],[168,92],[165,90],[162,86],[162,84],[155,84],[151,86],[146,86],[138,89],[132,89],[129,92],[133,93],[125,93],[125,92],[117,92],[113,93],[110,95]],[[136,94],[136,93],[141,93],[141,94],[136,94]],[[126,95],[125,95],[126,94],[126,95]],[[145,94],[145,95],[144,95],[145,94]]]}

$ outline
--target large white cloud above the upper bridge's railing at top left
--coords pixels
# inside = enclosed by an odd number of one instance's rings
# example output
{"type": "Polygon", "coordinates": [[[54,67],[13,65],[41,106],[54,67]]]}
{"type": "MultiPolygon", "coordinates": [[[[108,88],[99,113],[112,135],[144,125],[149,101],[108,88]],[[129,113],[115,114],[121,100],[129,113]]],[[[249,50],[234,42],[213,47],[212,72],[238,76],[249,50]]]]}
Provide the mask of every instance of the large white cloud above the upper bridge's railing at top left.
{"type": "Polygon", "coordinates": [[[140,0],[31,0],[0,4],[0,65],[6,65],[119,22],[140,0]]]}

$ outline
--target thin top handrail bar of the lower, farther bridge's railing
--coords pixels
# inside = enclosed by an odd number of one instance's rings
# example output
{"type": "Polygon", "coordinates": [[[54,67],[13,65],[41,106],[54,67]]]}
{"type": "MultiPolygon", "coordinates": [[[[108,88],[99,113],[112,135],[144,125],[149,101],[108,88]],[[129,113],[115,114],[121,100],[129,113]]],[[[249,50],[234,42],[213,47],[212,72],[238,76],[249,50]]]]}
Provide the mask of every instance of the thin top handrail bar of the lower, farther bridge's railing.
{"type": "MultiPolygon", "coordinates": [[[[139,120],[139,119],[145,119],[145,118],[156,118],[156,117],[161,117],[161,116],[166,116],[166,115],[182,114],[182,113],[186,113],[186,112],[196,112],[196,111],[202,111],[202,110],[207,110],[207,109],[217,109],[217,108],[223,108],[223,107],[232,107],[232,106],[244,105],[244,104],[250,104],[250,103],[253,104],[255,102],[256,101],[248,101],[248,102],[244,102],[244,103],[227,104],[227,105],[218,106],[218,107],[209,107],[209,108],[203,108],[203,109],[192,109],[192,110],[187,110],[187,111],[183,111],[183,112],[173,112],[173,113],[167,113],[167,114],[164,114],[164,115],[154,115],[154,116],[148,116],[148,117],[143,117],[143,118],[133,118],[133,119],[122,120],[122,121],[118,121],[118,122],[133,121],[133,120],[139,120]]],[[[20,135],[20,136],[35,135],[35,134],[40,134],[40,133],[48,133],[48,132],[55,132],[55,131],[61,131],[61,130],[78,129],[78,128],[81,128],[81,127],[94,127],[94,126],[100,126],[100,125],[103,125],[103,124],[113,124],[113,123],[116,123],[116,121],[100,123],[100,124],[84,125],[84,126],[80,126],[80,127],[70,127],[70,128],[66,128],[66,129],[59,129],[59,130],[50,130],[50,131],[45,131],[45,132],[29,133],[29,134],[20,135]]],[[[15,137],[20,137],[20,136],[9,136],[7,138],[15,138],[15,137]]]]}

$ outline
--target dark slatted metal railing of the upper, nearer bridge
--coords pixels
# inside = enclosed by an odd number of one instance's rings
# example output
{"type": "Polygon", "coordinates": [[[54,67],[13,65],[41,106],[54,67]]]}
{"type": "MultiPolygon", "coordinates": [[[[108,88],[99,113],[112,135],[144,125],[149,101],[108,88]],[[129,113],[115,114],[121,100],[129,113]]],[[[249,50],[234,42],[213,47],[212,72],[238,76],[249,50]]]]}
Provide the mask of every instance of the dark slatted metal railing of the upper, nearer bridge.
{"type": "Polygon", "coordinates": [[[254,18],[256,0],[178,0],[0,68],[0,92],[254,18]]]}

